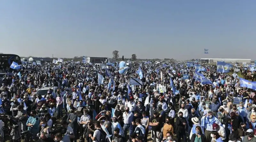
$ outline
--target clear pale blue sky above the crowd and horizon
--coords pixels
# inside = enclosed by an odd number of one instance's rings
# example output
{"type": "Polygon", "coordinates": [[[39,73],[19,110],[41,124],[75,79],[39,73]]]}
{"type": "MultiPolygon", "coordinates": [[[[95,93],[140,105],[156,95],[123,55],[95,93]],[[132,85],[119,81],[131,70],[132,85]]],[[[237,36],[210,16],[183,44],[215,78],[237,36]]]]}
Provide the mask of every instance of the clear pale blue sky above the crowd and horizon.
{"type": "Polygon", "coordinates": [[[255,59],[255,7],[255,0],[2,0],[0,52],[255,59]]]}

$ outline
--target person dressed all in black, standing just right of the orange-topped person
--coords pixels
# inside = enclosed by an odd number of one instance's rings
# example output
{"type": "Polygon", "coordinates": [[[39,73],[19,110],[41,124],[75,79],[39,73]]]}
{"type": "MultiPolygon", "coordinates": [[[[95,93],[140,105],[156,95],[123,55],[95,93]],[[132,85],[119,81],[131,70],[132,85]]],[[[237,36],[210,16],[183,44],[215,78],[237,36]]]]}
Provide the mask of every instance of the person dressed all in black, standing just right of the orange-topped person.
{"type": "Polygon", "coordinates": [[[187,120],[184,118],[182,112],[179,112],[178,114],[179,114],[179,117],[176,118],[176,122],[175,122],[176,124],[175,132],[177,135],[177,139],[178,139],[178,142],[180,142],[181,138],[186,141],[187,137],[186,137],[185,127],[187,126],[187,120]]]}

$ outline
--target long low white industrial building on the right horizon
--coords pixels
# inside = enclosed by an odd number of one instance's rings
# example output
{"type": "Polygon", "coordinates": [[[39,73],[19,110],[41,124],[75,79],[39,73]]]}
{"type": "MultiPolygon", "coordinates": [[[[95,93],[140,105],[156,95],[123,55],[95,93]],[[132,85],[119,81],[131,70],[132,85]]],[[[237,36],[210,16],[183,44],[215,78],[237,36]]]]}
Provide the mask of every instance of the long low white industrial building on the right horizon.
{"type": "Polygon", "coordinates": [[[225,59],[225,58],[201,58],[201,63],[217,64],[217,61],[224,61],[230,64],[251,64],[251,59],[225,59]]]}

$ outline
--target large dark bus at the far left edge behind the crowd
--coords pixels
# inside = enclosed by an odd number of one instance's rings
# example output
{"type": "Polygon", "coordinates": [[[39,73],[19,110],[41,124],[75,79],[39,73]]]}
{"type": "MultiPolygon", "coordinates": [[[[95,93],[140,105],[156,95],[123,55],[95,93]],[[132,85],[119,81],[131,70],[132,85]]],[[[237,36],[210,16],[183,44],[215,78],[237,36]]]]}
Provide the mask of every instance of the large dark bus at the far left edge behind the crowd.
{"type": "Polygon", "coordinates": [[[21,65],[20,56],[0,53],[0,72],[6,72],[12,65],[13,61],[21,65]]]}

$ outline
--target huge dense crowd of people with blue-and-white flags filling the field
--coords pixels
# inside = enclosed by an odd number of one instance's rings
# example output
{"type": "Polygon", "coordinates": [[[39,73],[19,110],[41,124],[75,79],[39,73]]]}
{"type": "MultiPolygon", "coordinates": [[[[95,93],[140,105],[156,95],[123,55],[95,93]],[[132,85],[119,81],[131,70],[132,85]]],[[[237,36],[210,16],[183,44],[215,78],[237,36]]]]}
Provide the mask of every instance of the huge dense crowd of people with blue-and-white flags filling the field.
{"type": "MultiPolygon", "coordinates": [[[[202,84],[187,62],[133,62],[125,74],[117,65],[42,62],[6,74],[0,111],[8,115],[13,142],[27,131],[42,142],[256,141],[255,91],[240,87],[237,75],[202,64],[200,73],[212,82],[202,84]],[[131,78],[143,83],[130,84],[131,78]],[[37,93],[42,87],[52,88],[37,93]]],[[[4,139],[5,131],[0,135],[4,139]]]]}

